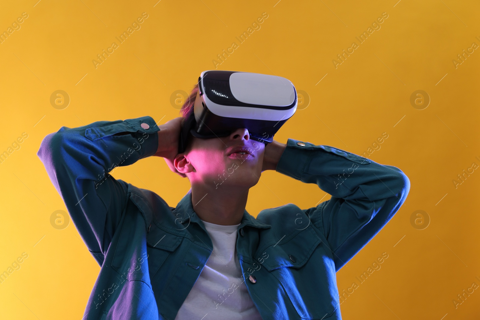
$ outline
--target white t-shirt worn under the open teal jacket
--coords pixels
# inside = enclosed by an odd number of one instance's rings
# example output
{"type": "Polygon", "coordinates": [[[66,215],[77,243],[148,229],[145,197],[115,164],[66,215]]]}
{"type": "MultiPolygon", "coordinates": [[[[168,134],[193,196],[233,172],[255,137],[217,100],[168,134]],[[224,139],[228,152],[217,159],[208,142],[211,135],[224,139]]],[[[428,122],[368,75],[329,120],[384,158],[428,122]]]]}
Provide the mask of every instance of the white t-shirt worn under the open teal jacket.
{"type": "Polygon", "coordinates": [[[237,229],[240,224],[203,223],[212,239],[213,251],[175,320],[261,320],[243,283],[237,259],[237,229]]]}

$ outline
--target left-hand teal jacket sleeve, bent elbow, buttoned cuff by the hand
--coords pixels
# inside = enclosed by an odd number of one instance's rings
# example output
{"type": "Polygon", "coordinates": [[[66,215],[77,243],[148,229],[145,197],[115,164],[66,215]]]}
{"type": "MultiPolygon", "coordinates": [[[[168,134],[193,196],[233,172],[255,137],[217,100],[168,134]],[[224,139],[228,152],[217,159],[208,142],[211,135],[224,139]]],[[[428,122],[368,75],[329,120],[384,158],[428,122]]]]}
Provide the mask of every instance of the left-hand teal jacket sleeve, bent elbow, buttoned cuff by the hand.
{"type": "Polygon", "coordinates": [[[128,183],[108,173],[155,154],[159,130],[149,116],[96,121],[61,127],[40,144],[37,156],[100,265],[127,202],[128,183]]]}

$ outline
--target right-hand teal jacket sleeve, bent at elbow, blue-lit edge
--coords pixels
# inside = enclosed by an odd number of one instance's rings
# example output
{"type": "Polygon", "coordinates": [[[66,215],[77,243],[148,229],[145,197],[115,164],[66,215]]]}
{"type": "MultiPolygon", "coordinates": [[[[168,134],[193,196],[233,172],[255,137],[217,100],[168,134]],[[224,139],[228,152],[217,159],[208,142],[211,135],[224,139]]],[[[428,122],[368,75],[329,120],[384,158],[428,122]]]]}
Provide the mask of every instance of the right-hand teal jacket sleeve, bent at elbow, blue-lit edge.
{"type": "Polygon", "coordinates": [[[288,139],[276,171],[315,183],[331,195],[330,200],[303,211],[323,231],[336,271],[386,225],[410,190],[410,180],[395,166],[294,139],[288,139]]]}

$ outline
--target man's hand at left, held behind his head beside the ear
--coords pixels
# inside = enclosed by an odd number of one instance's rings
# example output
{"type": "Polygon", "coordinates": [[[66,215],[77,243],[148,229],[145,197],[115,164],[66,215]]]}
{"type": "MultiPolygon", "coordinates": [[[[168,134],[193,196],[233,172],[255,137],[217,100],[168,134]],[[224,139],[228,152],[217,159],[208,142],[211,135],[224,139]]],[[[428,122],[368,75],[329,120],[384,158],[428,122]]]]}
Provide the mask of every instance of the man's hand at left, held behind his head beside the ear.
{"type": "Polygon", "coordinates": [[[182,117],[177,117],[171,119],[165,124],[159,125],[158,128],[158,148],[155,156],[163,157],[165,162],[167,162],[168,167],[173,172],[179,174],[181,177],[186,177],[177,171],[173,165],[173,160],[178,154],[179,151],[179,138],[181,130],[181,121],[182,117]]]}

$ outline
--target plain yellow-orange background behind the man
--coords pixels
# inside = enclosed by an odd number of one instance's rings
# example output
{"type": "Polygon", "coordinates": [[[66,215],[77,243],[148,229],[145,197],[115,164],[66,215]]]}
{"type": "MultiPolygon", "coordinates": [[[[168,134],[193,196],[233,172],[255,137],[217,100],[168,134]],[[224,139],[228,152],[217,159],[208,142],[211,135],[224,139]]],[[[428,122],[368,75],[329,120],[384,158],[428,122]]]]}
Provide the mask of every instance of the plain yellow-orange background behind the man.
{"type": "MultiPolygon", "coordinates": [[[[239,47],[218,70],[279,75],[310,96],[277,141],[362,154],[387,132],[369,158],[410,179],[405,204],[337,273],[342,293],[388,254],[341,304],[343,319],[478,319],[480,289],[457,308],[453,299],[480,285],[480,173],[457,188],[452,180],[473,162],[480,165],[479,49],[457,68],[452,60],[472,42],[480,45],[479,9],[478,1],[453,0],[3,3],[0,31],[22,12],[28,18],[0,44],[0,152],[22,132],[28,138],[0,164],[0,272],[22,252],[28,258],[0,284],[1,318],[81,319],[99,272],[72,222],[62,230],[50,224],[50,215],[66,208],[36,156],[42,139],[61,126],[98,120],[149,115],[163,124],[178,117],[171,94],[189,91],[235,41],[239,47]],[[141,28],[95,68],[96,55],[142,12],[148,18],[141,28]],[[235,37],[263,12],[261,28],[239,44],[235,37]],[[381,28],[335,68],[337,54],[383,12],[381,28]],[[52,107],[56,90],[70,96],[68,107],[52,107]],[[423,110],[410,104],[416,90],[431,98],[423,110]],[[430,217],[423,230],[410,224],[416,210],[430,217]]],[[[190,188],[157,157],[116,168],[114,177],[154,190],[170,206],[190,188]]],[[[290,202],[306,209],[329,199],[324,196],[316,185],[267,171],[252,188],[247,211],[256,216],[290,202]]]]}

